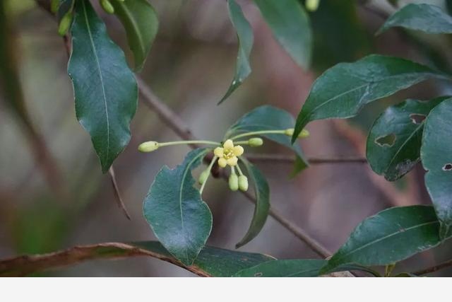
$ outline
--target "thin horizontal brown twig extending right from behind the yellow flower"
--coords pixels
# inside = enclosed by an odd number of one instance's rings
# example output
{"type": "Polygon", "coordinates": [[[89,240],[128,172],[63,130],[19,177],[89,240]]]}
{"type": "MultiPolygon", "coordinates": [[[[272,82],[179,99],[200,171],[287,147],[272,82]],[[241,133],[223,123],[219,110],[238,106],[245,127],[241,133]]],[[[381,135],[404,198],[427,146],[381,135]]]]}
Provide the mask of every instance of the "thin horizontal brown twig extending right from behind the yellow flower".
{"type": "MultiPolygon", "coordinates": [[[[272,163],[294,163],[294,156],[283,154],[251,154],[246,156],[249,161],[254,163],[272,162],[272,163]]],[[[333,164],[333,163],[367,163],[367,159],[359,156],[350,157],[309,157],[309,163],[313,165],[333,164]]]]}

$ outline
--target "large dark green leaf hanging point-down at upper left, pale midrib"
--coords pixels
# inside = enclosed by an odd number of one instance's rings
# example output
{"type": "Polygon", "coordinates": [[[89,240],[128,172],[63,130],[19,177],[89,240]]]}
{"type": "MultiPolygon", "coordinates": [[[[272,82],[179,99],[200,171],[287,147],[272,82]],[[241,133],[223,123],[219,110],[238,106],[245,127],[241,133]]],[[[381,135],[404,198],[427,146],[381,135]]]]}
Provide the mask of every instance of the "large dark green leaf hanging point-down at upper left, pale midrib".
{"type": "Polygon", "coordinates": [[[110,40],[90,1],[76,2],[69,60],[76,115],[105,173],[130,141],[138,86],[121,48],[110,40]]]}

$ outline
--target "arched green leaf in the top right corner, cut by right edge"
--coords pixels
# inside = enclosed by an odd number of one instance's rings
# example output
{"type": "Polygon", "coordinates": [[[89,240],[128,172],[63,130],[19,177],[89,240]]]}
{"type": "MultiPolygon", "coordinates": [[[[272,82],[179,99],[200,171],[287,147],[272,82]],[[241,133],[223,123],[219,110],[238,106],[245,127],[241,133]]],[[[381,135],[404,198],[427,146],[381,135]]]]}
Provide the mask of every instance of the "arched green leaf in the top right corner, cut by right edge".
{"type": "Polygon", "coordinates": [[[432,4],[408,4],[393,13],[376,34],[393,27],[422,30],[425,33],[452,33],[452,17],[432,4]]]}

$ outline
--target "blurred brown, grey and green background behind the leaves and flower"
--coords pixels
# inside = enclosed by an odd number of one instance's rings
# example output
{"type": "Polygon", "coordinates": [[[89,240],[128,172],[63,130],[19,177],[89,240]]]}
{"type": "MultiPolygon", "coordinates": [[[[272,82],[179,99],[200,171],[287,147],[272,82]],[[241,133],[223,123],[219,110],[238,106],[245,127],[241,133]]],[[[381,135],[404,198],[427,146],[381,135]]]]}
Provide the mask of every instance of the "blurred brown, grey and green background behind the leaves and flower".
{"type": "MultiPolygon", "coordinates": [[[[117,207],[108,175],[101,173],[90,137],[76,120],[66,73],[68,56],[57,35],[56,22],[32,0],[1,1],[11,18],[8,28],[5,22],[0,23],[0,33],[9,37],[6,41],[16,56],[20,86],[0,83],[0,258],[73,245],[155,240],[143,218],[143,198],[162,165],[174,167],[189,149],[178,146],[138,153],[137,146],[143,141],[179,139],[154,112],[139,103],[131,125],[131,142],[114,163],[119,190],[132,218],[126,219],[117,207]]],[[[403,5],[408,1],[398,2],[403,5]]],[[[448,8],[442,0],[411,2],[448,8]]],[[[141,76],[189,124],[196,137],[203,139],[221,139],[230,124],[258,105],[275,105],[296,116],[314,79],[338,62],[379,53],[414,59],[445,71],[452,66],[448,52],[452,40],[446,35],[390,30],[374,36],[396,9],[388,1],[321,0],[319,10],[310,13],[314,62],[311,70],[304,71],[275,42],[256,6],[242,0],[239,4],[255,34],[253,72],[227,102],[217,106],[230,84],[237,56],[237,38],[226,1],[150,3],[160,18],[160,30],[141,76]]],[[[114,41],[131,59],[121,24],[114,16],[99,13],[114,41]]],[[[4,54],[1,57],[1,64],[11,65],[4,54]]],[[[406,98],[429,99],[451,93],[446,83],[422,83],[369,105],[355,119],[312,122],[307,127],[311,137],[302,141],[302,148],[308,157],[364,157],[367,130],[388,105],[406,98]]],[[[271,143],[259,151],[287,153],[271,143]]],[[[372,173],[367,163],[311,165],[294,179],[288,177],[292,167],[287,163],[258,165],[270,182],[272,207],[331,251],[345,242],[357,223],[381,209],[430,202],[420,165],[395,183],[372,173]]],[[[222,180],[210,180],[203,197],[214,216],[208,245],[234,249],[246,233],[253,205],[242,194],[230,192],[222,180]]],[[[441,262],[448,259],[451,248],[450,244],[442,245],[403,262],[396,270],[441,262]]],[[[271,217],[258,237],[239,250],[278,258],[317,257],[271,217]]],[[[194,274],[159,260],[137,257],[86,262],[40,276],[194,274]]]]}

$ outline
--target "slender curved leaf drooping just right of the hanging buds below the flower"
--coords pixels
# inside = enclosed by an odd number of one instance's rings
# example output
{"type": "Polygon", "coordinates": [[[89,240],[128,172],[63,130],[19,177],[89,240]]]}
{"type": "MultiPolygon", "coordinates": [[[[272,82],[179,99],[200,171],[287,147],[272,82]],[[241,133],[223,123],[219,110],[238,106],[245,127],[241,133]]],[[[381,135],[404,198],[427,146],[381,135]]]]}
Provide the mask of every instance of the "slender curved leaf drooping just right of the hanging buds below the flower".
{"type": "Polygon", "coordinates": [[[246,235],[242,240],[235,245],[235,248],[240,248],[246,243],[253,240],[258,233],[261,232],[263,225],[266,223],[268,217],[268,211],[270,211],[270,188],[268,187],[268,182],[261,171],[256,168],[245,158],[241,158],[242,163],[244,163],[248,175],[254,184],[254,193],[256,194],[256,207],[254,208],[253,220],[251,221],[251,226],[246,232],[246,235]]]}

